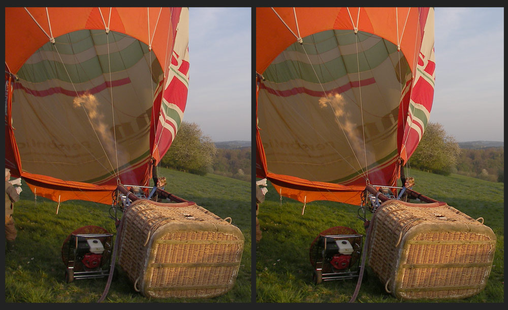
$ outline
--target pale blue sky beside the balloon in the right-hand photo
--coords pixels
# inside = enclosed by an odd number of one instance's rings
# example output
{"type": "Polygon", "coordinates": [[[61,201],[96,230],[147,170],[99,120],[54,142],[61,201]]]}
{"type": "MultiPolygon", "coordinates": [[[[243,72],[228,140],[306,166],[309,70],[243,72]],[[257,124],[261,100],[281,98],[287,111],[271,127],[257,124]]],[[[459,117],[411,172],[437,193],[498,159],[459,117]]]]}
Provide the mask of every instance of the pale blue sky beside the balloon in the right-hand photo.
{"type": "Polygon", "coordinates": [[[504,8],[435,8],[430,121],[458,142],[504,142],[504,8]]]}

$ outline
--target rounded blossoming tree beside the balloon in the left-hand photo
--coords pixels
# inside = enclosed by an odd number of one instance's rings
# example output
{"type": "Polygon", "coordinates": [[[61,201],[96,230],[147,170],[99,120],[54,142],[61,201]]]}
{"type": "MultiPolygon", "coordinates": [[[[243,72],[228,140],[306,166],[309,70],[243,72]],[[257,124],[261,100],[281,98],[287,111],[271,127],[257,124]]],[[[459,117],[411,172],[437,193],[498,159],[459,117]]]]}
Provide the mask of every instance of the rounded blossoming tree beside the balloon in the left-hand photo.
{"type": "Polygon", "coordinates": [[[182,122],[162,163],[204,176],[211,168],[216,153],[217,149],[211,137],[204,135],[198,124],[182,122]]]}

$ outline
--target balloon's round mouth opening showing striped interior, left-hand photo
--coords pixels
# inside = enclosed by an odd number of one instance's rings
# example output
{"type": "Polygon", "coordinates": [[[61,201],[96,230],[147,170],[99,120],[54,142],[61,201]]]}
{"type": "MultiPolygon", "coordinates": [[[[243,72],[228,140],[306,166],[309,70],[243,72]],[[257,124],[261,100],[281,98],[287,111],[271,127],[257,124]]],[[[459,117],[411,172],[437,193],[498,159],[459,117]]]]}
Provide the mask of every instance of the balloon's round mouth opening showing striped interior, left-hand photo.
{"type": "Polygon", "coordinates": [[[164,78],[146,44],[78,30],[38,49],[17,76],[12,117],[24,171],[91,184],[116,185],[117,174],[141,181],[126,166],[149,157],[142,150],[149,150],[152,93],[164,78]]]}

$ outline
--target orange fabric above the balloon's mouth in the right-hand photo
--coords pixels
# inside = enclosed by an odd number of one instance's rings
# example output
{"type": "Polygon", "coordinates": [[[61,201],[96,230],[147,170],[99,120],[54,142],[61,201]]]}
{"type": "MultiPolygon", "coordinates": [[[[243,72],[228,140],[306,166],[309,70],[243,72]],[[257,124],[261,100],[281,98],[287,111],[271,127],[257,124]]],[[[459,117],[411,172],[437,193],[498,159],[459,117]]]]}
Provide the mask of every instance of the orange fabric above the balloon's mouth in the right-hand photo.
{"type": "MultiPolygon", "coordinates": [[[[301,38],[330,29],[353,30],[353,23],[358,25],[359,31],[372,32],[394,44],[402,37],[401,50],[414,70],[420,50],[420,40],[417,38],[422,35],[417,23],[418,8],[360,8],[359,17],[358,8],[348,9],[349,12],[347,8],[295,8],[297,27],[293,8],[274,8],[295,35],[298,36],[300,31],[301,38]],[[406,17],[414,22],[407,23],[406,17]],[[394,25],[398,25],[398,31],[394,25]]],[[[256,16],[256,72],[263,74],[272,60],[293,44],[296,38],[272,8],[256,8],[256,16]]]]}

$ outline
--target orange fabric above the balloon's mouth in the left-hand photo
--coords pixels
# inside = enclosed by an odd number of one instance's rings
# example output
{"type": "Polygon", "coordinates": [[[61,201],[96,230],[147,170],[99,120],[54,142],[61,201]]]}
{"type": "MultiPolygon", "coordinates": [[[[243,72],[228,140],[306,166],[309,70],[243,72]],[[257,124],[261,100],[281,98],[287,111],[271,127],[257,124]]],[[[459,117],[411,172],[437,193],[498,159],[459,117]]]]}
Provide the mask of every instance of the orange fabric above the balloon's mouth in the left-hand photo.
{"type": "MultiPolygon", "coordinates": [[[[111,15],[110,8],[100,9],[47,8],[46,13],[46,8],[27,8],[46,35],[24,8],[5,8],[5,61],[11,73],[16,74],[26,59],[49,41],[48,36],[56,38],[80,29],[105,29],[105,24],[109,24],[110,30],[126,33],[147,45],[152,42],[153,52],[161,61],[171,56],[167,54],[170,51],[166,49],[166,44],[169,40],[169,46],[172,46],[173,36],[164,30],[169,29],[170,8],[163,8],[161,14],[160,8],[149,8],[148,11],[146,8],[112,8],[111,15]],[[23,41],[19,42],[19,38],[23,41]]],[[[174,13],[179,14],[179,11],[174,13]]],[[[164,65],[162,67],[166,70],[164,65]]]]}

